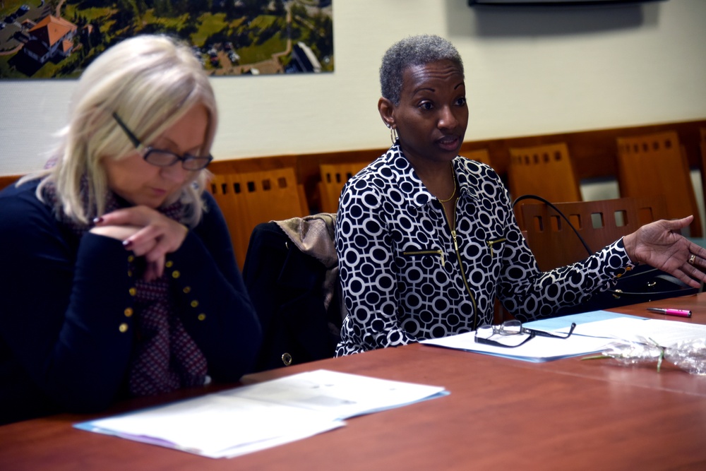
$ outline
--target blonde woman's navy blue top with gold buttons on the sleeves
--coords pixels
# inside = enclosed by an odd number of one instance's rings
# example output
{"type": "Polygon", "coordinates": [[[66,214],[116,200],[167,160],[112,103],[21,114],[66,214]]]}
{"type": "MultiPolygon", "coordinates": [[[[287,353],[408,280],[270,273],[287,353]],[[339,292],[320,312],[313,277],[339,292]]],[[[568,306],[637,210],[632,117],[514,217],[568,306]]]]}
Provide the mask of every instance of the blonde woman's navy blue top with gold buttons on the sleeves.
{"type": "MultiPolygon", "coordinates": [[[[57,222],[37,181],[0,192],[0,424],[101,410],[125,391],[133,275],[121,242],[57,222]]],[[[207,211],[167,260],[172,303],[214,381],[252,369],[261,328],[222,213],[207,211]]]]}

